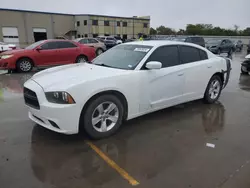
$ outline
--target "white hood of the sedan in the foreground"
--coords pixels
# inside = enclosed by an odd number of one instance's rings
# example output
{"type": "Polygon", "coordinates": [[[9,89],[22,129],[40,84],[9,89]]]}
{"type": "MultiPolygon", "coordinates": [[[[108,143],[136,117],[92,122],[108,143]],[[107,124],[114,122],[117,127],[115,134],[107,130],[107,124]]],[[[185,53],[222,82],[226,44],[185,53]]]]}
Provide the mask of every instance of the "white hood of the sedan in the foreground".
{"type": "Polygon", "coordinates": [[[78,83],[113,77],[127,73],[127,70],[79,63],[50,68],[36,73],[31,79],[45,90],[61,89],[78,83]]]}

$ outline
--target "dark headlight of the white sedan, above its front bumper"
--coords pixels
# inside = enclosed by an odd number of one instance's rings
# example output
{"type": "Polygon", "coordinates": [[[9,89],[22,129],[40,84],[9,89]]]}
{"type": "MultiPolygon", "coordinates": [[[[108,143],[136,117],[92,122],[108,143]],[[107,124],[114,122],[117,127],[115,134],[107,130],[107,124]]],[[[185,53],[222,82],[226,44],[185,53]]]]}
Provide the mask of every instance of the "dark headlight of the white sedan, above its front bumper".
{"type": "Polygon", "coordinates": [[[51,103],[57,103],[57,104],[74,104],[75,103],[73,97],[64,91],[46,92],[45,96],[47,100],[51,103]]]}

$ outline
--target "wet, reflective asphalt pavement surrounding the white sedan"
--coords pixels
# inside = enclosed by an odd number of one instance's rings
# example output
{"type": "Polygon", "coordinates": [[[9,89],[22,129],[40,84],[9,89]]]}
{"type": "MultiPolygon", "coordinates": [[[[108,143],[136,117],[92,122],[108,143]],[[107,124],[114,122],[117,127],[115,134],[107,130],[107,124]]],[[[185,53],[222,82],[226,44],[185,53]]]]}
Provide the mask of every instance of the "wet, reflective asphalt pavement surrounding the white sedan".
{"type": "Polygon", "coordinates": [[[216,104],[194,101],[145,115],[99,141],[35,125],[22,95],[32,74],[0,75],[0,187],[133,187],[91,142],[136,187],[249,188],[250,76],[240,74],[244,56],[233,56],[229,84],[216,104]]]}

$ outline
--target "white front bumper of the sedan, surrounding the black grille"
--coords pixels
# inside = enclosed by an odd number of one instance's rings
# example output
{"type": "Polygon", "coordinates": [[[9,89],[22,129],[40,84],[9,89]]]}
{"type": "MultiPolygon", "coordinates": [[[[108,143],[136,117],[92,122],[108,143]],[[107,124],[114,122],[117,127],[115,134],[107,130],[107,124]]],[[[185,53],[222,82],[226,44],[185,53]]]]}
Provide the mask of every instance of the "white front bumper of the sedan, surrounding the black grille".
{"type": "Polygon", "coordinates": [[[36,93],[40,109],[29,108],[29,118],[35,123],[62,134],[78,133],[81,110],[76,104],[54,104],[47,101],[43,88],[35,81],[29,80],[25,88],[36,93]]]}

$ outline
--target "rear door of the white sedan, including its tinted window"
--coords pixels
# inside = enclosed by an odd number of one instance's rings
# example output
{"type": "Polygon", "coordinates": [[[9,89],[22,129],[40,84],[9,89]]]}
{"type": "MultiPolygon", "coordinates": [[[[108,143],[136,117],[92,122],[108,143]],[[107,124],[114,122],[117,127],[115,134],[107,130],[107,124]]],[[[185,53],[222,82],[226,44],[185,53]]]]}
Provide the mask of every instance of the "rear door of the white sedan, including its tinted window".
{"type": "Polygon", "coordinates": [[[199,48],[181,45],[179,49],[185,75],[182,102],[201,98],[213,75],[213,64],[207,53],[199,48]]]}

